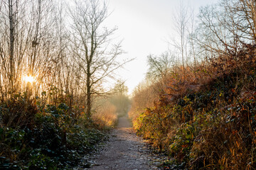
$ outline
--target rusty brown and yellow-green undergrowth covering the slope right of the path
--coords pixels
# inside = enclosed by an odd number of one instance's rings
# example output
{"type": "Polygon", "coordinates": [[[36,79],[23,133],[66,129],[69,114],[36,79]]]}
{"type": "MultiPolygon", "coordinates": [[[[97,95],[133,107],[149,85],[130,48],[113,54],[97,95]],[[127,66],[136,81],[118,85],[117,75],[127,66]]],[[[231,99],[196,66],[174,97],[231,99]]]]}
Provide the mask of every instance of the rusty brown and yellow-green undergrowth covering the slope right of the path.
{"type": "Polygon", "coordinates": [[[244,45],[198,67],[196,81],[172,72],[154,106],[132,105],[137,133],[169,154],[166,169],[256,169],[255,61],[244,45]]]}

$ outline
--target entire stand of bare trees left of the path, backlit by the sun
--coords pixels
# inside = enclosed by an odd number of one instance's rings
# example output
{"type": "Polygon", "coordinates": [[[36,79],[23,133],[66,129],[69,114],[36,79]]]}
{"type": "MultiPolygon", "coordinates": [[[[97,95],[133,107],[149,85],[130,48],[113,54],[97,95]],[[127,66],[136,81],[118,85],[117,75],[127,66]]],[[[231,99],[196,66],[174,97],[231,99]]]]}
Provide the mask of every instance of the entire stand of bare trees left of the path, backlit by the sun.
{"type": "Polygon", "coordinates": [[[1,99],[8,98],[9,92],[26,91],[31,98],[48,91],[45,99],[51,104],[57,104],[57,98],[70,99],[70,106],[86,102],[90,117],[92,98],[105,94],[102,84],[115,79],[113,72],[127,60],[117,62],[123,52],[120,42],[112,43],[117,28],[103,26],[108,16],[105,3],[66,1],[67,18],[64,2],[0,1],[1,99]],[[26,83],[25,76],[36,81],[26,83]]]}

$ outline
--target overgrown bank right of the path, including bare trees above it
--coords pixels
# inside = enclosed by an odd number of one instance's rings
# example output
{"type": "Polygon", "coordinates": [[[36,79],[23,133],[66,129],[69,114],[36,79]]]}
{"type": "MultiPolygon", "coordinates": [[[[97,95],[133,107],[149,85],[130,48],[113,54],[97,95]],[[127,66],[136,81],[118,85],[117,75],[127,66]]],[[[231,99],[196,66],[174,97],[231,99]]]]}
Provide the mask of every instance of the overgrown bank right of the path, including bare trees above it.
{"type": "Polygon", "coordinates": [[[181,4],[176,52],[149,55],[129,116],[169,155],[164,169],[256,168],[255,6],[223,0],[202,7],[193,26],[181,4]]]}

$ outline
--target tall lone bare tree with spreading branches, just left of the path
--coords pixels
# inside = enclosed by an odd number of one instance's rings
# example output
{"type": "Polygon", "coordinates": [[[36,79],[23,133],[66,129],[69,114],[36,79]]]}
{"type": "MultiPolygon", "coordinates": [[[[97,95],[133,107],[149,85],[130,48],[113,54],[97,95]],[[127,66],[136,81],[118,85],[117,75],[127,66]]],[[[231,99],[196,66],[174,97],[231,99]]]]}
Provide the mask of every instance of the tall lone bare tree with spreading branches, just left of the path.
{"type": "Polygon", "coordinates": [[[74,1],[74,4],[75,8],[69,10],[73,20],[71,41],[74,59],[83,74],[80,79],[85,84],[85,113],[90,118],[92,97],[102,93],[97,87],[125,61],[117,62],[117,57],[123,52],[121,44],[111,44],[111,35],[117,28],[102,27],[108,16],[106,4],[98,0],[74,1]]]}

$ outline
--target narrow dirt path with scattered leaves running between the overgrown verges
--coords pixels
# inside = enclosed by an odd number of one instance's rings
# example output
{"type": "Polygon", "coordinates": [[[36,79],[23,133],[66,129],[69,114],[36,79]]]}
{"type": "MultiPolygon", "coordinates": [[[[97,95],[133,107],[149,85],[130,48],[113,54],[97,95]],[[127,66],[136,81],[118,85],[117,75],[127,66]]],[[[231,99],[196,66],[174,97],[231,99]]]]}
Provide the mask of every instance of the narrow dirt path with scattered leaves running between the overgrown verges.
{"type": "Polygon", "coordinates": [[[95,170],[149,170],[157,169],[152,164],[149,149],[142,139],[132,130],[127,117],[119,118],[118,126],[112,131],[112,137],[105,148],[92,159],[95,170]]]}

